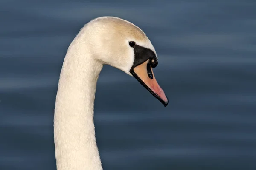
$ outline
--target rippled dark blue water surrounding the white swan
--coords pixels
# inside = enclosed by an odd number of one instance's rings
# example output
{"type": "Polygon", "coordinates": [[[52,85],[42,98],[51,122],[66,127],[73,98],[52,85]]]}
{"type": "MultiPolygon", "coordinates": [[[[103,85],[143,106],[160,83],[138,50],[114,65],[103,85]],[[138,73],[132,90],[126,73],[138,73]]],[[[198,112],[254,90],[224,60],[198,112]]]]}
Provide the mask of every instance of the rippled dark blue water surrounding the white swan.
{"type": "Polygon", "coordinates": [[[1,0],[0,170],[55,170],[67,48],[91,19],[139,26],[169,105],[105,65],[95,101],[104,170],[256,170],[255,0],[1,0]]]}

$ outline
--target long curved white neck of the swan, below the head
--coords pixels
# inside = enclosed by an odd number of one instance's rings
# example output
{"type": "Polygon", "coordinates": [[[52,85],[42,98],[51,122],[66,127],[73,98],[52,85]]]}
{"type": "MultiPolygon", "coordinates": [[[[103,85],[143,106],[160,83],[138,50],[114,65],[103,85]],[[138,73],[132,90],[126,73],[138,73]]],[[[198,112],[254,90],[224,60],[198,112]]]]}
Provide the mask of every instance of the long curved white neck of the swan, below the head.
{"type": "Polygon", "coordinates": [[[54,115],[57,170],[102,170],[93,108],[102,63],[79,37],[70,44],[58,84],[54,115]]]}

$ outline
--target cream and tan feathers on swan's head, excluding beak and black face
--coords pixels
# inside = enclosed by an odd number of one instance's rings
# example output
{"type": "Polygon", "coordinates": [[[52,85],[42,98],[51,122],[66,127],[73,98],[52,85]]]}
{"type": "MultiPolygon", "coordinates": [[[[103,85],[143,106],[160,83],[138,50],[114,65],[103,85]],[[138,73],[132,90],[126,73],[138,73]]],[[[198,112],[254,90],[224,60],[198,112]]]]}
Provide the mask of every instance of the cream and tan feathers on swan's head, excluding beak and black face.
{"type": "Polygon", "coordinates": [[[85,28],[90,30],[90,51],[94,57],[127,74],[131,74],[130,69],[134,64],[134,48],[129,42],[133,41],[136,45],[151,49],[156,55],[146,34],[126,20],[99,17],[90,21],[85,28]]]}

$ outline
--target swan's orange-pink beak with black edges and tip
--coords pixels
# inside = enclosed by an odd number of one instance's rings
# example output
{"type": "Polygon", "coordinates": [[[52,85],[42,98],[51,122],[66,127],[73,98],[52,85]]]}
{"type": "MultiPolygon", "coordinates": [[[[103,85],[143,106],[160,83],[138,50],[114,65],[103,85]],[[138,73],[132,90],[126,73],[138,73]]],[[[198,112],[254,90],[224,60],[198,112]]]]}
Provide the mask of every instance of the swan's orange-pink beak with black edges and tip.
{"type": "Polygon", "coordinates": [[[163,103],[165,107],[168,105],[168,98],[162,88],[158,85],[149,60],[131,68],[130,72],[133,77],[135,77],[141,85],[143,85],[153,96],[163,103]]]}

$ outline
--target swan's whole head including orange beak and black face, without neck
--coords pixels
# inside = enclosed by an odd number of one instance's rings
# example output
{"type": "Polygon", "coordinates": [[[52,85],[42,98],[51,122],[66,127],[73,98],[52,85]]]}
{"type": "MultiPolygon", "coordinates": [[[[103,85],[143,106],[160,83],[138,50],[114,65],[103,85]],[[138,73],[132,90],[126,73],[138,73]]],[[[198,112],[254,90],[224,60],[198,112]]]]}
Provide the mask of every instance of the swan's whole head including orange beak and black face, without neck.
{"type": "Polygon", "coordinates": [[[90,52],[97,60],[133,76],[164,106],[168,105],[153,73],[158,64],[156,51],[139,27],[117,17],[99,17],[85,28],[90,52]]]}

